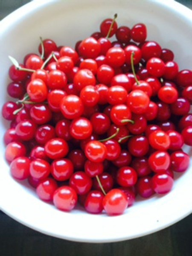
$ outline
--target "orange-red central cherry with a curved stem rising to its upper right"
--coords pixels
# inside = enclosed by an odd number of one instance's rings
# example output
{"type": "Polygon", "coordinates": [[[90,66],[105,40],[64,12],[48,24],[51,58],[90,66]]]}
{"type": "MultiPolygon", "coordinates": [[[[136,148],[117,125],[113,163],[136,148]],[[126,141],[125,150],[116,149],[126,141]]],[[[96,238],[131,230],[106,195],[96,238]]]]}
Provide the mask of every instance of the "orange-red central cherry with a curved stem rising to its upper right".
{"type": "Polygon", "coordinates": [[[84,153],[90,161],[100,163],[105,160],[107,149],[103,143],[92,140],[85,146],[84,153]]]}

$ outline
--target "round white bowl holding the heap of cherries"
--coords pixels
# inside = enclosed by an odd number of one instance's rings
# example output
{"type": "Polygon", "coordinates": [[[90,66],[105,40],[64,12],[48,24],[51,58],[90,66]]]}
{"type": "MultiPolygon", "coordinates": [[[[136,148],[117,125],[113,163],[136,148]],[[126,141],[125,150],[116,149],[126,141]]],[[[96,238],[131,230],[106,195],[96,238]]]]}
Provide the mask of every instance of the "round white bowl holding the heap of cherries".
{"type": "MultiPolygon", "coordinates": [[[[51,38],[58,45],[73,47],[76,41],[97,31],[100,22],[113,17],[114,13],[118,13],[119,25],[131,27],[135,23],[145,23],[148,39],[172,49],[180,70],[192,70],[192,12],[179,3],[171,0],[32,1],[0,21],[0,105],[8,99],[8,55],[22,61],[28,52],[37,52],[40,36],[51,38]]],[[[11,177],[4,160],[6,127],[7,122],[2,119],[0,209],[34,230],[73,241],[122,241],[161,230],[192,212],[192,163],[189,170],[175,181],[172,192],[137,201],[123,215],[91,215],[81,209],[59,211],[40,201],[29,186],[23,186],[11,177]]]]}

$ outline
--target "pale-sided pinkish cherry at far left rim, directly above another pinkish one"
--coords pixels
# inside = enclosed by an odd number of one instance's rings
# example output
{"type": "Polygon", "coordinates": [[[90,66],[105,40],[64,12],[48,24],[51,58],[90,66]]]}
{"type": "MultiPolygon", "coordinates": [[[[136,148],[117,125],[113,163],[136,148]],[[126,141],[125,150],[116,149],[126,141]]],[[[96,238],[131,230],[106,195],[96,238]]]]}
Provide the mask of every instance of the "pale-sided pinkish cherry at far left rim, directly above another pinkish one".
{"type": "Polygon", "coordinates": [[[18,180],[24,180],[29,177],[30,160],[28,157],[17,157],[10,165],[11,175],[18,180]]]}

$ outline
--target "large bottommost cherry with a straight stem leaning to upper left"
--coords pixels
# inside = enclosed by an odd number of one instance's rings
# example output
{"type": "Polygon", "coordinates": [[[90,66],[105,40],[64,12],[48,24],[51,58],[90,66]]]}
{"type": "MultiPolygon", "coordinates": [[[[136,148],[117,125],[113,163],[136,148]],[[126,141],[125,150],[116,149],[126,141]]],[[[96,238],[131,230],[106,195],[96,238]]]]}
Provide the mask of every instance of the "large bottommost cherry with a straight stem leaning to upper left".
{"type": "Polygon", "coordinates": [[[103,198],[103,207],[108,215],[122,214],[128,207],[128,200],[120,189],[111,189],[103,198]]]}

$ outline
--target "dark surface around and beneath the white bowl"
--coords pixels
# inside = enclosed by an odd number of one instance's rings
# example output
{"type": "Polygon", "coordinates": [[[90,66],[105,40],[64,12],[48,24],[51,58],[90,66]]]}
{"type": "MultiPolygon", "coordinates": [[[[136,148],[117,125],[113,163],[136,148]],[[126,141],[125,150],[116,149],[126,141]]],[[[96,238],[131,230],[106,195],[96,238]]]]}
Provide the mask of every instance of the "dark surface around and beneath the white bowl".
{"type": "MultiPolygon", "coordinates": [[[[27,2],[29,1],[0,0],[0,19],[27,2]]],[[[178,2],[192,8],[192,0],[178,0],[178,2]]],[[[148,236],[115,243],[90,244],[44,235],[0,212],[0,256],[102,255],[192,256],[192,215],[148,236]]]]}

